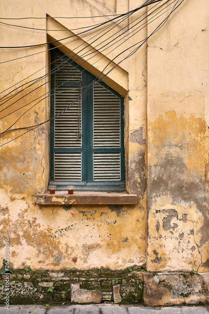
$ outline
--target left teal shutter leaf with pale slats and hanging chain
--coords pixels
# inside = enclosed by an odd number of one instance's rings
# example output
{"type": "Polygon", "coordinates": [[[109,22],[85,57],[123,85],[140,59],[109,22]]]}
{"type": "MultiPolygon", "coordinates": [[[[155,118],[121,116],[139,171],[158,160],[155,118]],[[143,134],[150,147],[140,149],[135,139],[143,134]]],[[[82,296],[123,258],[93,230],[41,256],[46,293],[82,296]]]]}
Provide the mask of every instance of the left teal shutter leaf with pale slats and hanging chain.
{"type": "Polygon", "coordinates": [[[84,148],[86,135],[84,130],[82,136],[82,111],[85,114],[85,109],[82,110],[81,87],[85,83],[85,74],[83,82],[82,69],[72,60],[69,61],[70,63],[64,60],[60,59],[59,53],[56,54],[53,89],[55,95],[51,116],[59,114],[62,110],[64,112],[56,116],[51,123],[53,130],[51,164],[54,169],[51,183],[60,186],[84,185],[86,184],[86,149],[84,148]],[[65,110],[67,106],[69,108],[65,110]]]}

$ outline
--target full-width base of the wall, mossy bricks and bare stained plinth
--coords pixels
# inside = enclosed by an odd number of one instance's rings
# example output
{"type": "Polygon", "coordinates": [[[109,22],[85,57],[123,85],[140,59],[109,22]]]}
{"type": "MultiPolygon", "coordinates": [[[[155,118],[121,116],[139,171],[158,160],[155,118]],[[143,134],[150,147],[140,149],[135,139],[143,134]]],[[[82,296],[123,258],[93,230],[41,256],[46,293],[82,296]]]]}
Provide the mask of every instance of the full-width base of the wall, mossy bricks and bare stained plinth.
{"type": "Polygon", "coordinates": [[[17,269],[0,280],[0,303],[9,287],[10,304],[144,303],[147,306],[209,303],[209,273],[149,273],[123,270],[17,269]],[[9,283],[9,286],[8,286],[9,283]],[[49,290],[50,287],[52,292],[49,290]],[[48,291],[49,290],[49,291],[48,291]]]}

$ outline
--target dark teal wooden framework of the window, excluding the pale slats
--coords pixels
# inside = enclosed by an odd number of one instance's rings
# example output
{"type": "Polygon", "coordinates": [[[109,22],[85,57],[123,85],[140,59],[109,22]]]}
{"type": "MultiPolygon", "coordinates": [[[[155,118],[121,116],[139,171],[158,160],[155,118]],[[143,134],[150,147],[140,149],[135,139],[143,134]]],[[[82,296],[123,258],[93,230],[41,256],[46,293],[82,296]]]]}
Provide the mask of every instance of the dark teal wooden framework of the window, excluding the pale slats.
{"type": "MultiPolygon", "coordinates": [[[[55,113],[55,56],[62,57],[63,61],[67,61],[71,65],[75,66],[79,71],[82,71],[82,81],[81,88],[82,92],[85,86],[89,86],[93,80],[96,78],[88,70],[81,67],[69,57],[63,55],[63,53],[54,48],[50,52],[50,64],[51,72],[50,75],[50,118],[54,116],[55,113]],[[68,60],[69,59],[69,60],[68,60]]],[[[72,83],[72,82],[71,82],[72,83]]],[[[75,86],[76,86],[76,82],[75,86]]],[[[66,82],[65,82],[66,84],[66,82]]],[[[65,84],[61,84],[65,86],[65,84]]],[[[82,95],[82,106],[81,106],[81,147],[80,148],[59,148],[55,149],[55,119],[50,120],[50,176],[49,185],[56,185],[56,190],[66,189],[67,185],[74,185],[74,190],[76,191],[109,191],[109,192],[123,192],[125,191],[125,146],[124,146],[124,97],[121,96],[117,91],[113,90],[104,82],[100,81],[98,83],[105,89],[109,90],[113,95],[120,99],[120,148],[111,148],[111,153],[120,152],[121,160],[121,180],[115,181],[93,181],[93,153],[96,152],[108,152],[108,148],[93,148],[93,87],[88,90],[87,93],[82,95]],[[54,155],[55,150],[59,152],[81,152],[81,181],[64,181],[55,180],[55,169],[54,169],[54,155]],[[91,179],[91,180],[88,180],[91,179]]],[[[58,86],[58,85],[57,85],[58,86]]],[[[72,86],[72,85],[71,85],[72,86]]]]}

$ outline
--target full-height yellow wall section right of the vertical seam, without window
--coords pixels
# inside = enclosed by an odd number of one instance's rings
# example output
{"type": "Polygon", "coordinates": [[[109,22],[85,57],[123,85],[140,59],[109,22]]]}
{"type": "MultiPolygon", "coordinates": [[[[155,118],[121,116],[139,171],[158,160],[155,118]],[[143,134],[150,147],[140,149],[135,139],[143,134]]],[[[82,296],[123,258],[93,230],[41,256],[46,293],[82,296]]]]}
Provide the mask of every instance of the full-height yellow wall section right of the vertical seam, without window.
{"type": "Polygon", "coordinates": [[[209,7],[199,4],[185,1],[148,43],[150,271],[209,270],[209,7]]]}

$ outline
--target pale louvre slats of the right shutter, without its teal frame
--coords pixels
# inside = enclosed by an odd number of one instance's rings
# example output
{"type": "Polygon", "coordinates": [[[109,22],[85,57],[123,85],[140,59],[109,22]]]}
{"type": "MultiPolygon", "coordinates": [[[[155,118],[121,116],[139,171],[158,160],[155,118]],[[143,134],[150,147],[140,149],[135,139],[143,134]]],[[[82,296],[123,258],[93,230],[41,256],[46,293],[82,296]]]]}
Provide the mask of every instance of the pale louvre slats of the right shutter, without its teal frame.
{"type": "Polygon", "coordinates": [[[93,178],[94,181],[120,181],[120,98],[99,84],[94,85],[93,98],[93,178]]]}

